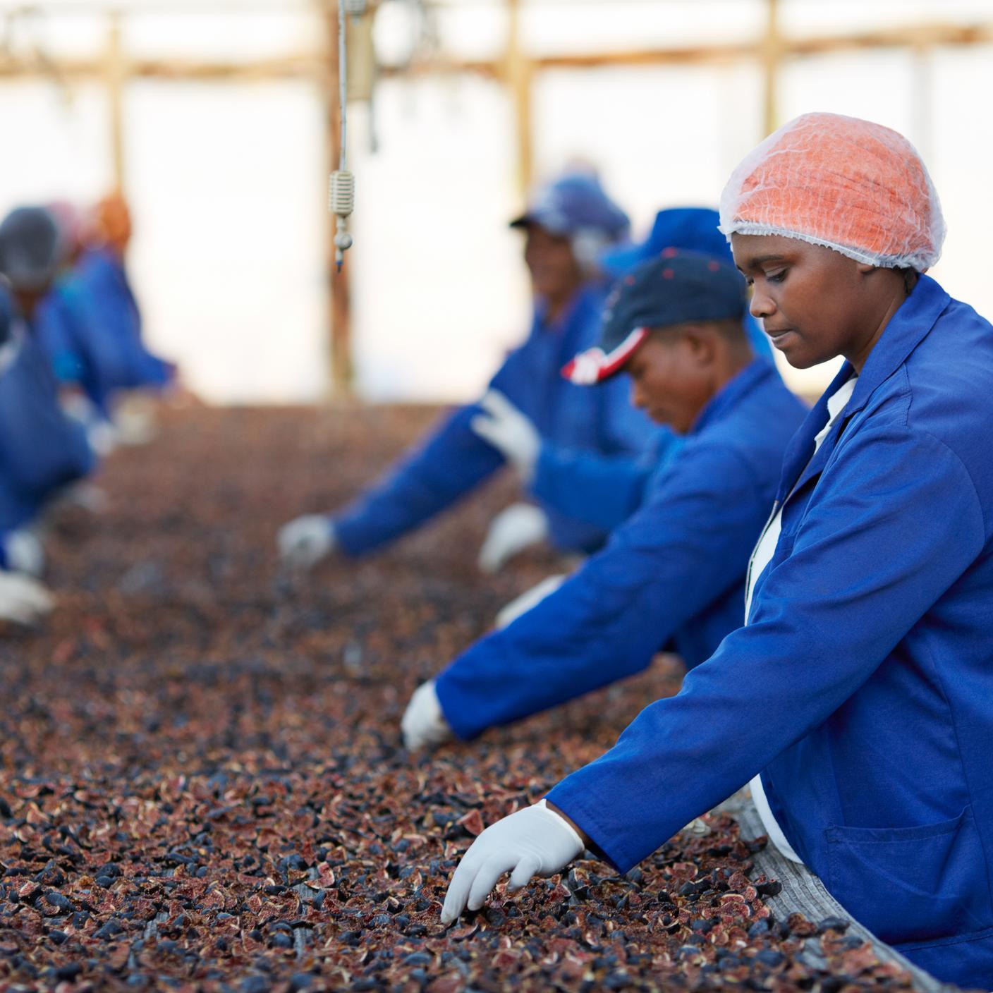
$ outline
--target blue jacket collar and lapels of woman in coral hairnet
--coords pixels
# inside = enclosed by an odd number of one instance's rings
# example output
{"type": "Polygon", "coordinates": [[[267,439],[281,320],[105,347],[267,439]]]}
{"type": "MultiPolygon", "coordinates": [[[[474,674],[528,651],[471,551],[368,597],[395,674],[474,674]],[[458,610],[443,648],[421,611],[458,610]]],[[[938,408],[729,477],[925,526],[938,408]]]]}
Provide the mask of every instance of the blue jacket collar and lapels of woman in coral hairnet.
{"type": "Polygon", "coordinates": [[[852,398],[845,407],[844,417],[839,417],[835,421],[828,436],[814,454],[814,437],[827,423],[827,401],[855,371],[851,362],[846,361],[841,366],[831,385],[814,404],[786,449],[780,489],[776,495],[778,506],[789,494],[799,490],[809,479],[823,470],[841,437],[845,424],[865,408],[880,384],[889,379],[907,361],[908,356],[934,327],[934,322],[950,301],[948,294],[929,276],[921,276],[918,279],[918,285],[890,319],[876,347],[866,359],[852,398]]]}

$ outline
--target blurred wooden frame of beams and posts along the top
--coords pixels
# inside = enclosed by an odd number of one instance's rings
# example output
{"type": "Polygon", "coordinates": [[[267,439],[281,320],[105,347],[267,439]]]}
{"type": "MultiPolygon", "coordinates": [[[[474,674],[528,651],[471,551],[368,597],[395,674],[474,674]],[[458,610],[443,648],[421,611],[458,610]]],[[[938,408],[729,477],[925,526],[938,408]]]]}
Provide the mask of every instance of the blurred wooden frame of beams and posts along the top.
{"type": "MultiPolygon", "coordinates": [[[[322,93],[326,128],[326,155],[329,171],[338,154],[338,23],[337,0],[314,0],[325,30],[322,43],[312,51],[291,53],[282,57],[252,62],[224,62],[191,59],[133,59],[122,50],[121,21],[126,12],[121,8],[93,8],[107,18],[107,40],[102,57],[94,59],[51,59],[35,53],[15,56],[0,52],[0,81],[4,79],[58,79],[60,83],[97,81],[106,86],[110,108],[111,162],[114,182],[123,189],[126,162],[124,157],[125,120],[123,93],[129,80],[162,79],[182,81],[258,82],[275,79],[313,81],[322,93]]],[[[375,6],[372,0],[370,7],[375,6]]],[[[926,22],[894,26],[871,31],[848,32],[798,38],[780,32],[780,0],[765,0],[766,26],[761,37],[747,42],[717,45],[649,47],[616,52],[574,52],[562,55],[532,56],[524,46],[522,15],[527,0],[503,0],[507,12],[507,35],[503,56],[499,59],[432,58],[399,69],[384,67],[380,77],[416,77],[440,73],[474,73],[497,80],[507,86],[515,117],[516,182],[523,193],[533,173],[533,87],[541,72],[556,70],[596,70],[606,68],[637,68],[659,66],[724,66],[739,62],[758,65],[763,75],[763,123],[769,133],[780,123],[778,119],[778,79],[787,60],[810,58],[846,52],[867,52],[883,49],[907,49],[919,62],[935,48],[958,48],[993,44],[993,22],[955,24],[926,22]]],[[[44,5],[39,5],[39,7],[44,5]]],[[[249,5],[246,5],[246,7],[249,5]]],[[[256,5],[250,5],[258,9],[256,5]]],[[[30,8],[22,8],[22,12],[30,8]]],[[[189,14],[198,6],[173,5],[166,10],[189,14]]],[[[224,10],[232,13],[233,4],[224,10]]],[[[278,9],[278,8],[274,8],[278,9]]],[[[303,9],[303,8],[297,8],[303,9]]],[[[79,8],[71,8],[78,12],[79,8]]],[[[87,12],[92,12],[92,9],[87,12]]],[[[161,12],[161,11],[159,11],[161,12]]],[[[147,13],[136,8],[134,13],[147,13]]],[[[328,241],[334,236],[334,223],[329,215],[328,241]]],[[[348,262],[336,274],[334,251],[326,262],[329,290],[329,358],[328,381],[332,394],[346,397],[353,389],[353,352],[351,334],[350,278],[348,262]]]]}

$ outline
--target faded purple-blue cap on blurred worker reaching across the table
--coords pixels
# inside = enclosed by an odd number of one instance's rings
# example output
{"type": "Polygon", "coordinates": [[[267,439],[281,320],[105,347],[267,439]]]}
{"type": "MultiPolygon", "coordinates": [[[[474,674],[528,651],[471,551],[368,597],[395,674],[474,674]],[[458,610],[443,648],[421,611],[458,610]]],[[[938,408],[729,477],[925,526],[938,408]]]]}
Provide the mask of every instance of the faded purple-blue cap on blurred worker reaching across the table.
{"type": "Polygon", "coordinates": [[[607,196],[596,176],[567,173],[539,187],[527,210],[514,217],[510,226],[537,224],[551,234],[571,236],[593,232],[617,241],[627,235],[630,223],[628,214],[607,196]]]}

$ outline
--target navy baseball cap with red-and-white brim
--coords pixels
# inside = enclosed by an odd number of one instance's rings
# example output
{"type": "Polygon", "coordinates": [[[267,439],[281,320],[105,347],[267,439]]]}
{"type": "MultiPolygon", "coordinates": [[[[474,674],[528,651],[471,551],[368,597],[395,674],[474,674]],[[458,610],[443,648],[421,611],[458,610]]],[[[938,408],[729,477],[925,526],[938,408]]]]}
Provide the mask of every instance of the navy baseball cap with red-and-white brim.
{"type": "Polygon", "coordinates": [[[621,279],[607,299],[600,344],[576,355],[562,375],[592,386],[624,368],[657,328],[741,321],[748,285],[730,263],[697,251],[665,248],[621,279]]]}

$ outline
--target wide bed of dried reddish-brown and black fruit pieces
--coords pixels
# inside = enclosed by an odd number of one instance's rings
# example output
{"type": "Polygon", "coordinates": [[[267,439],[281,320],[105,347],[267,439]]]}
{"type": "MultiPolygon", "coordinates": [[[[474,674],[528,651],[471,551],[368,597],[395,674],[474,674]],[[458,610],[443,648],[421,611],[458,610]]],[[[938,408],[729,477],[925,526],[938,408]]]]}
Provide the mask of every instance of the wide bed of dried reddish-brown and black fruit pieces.
{"type": "Polygon", "coordinates": [[[554,564],[478,575],[509,485],[306,581],[277,575],[272,545],[427,416],[173,414],[107,467],[102,516],[62,515],[61,610],[0,641],[0,987],[910,988],[843,921],[773,920],[779,884],[722,816],[627,877],[580,862],[442,928],[474,835],[600,754],[679,669],[411,761],[417,682],[554,564]]]}

